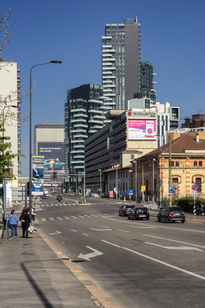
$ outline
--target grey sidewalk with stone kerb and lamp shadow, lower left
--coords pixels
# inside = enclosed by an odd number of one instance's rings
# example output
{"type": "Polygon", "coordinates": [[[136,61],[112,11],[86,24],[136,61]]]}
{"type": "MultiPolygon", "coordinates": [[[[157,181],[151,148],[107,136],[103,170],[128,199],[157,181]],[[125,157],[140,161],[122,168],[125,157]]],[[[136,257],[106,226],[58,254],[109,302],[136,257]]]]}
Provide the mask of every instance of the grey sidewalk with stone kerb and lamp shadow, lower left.
{"type": "Polygon", "coordinates": [[[22,238],[21,224],[17,232],[0,240],[1,308],[92,308],[93,294],[99,307],[120,308],[42,233],[22,238]]]}

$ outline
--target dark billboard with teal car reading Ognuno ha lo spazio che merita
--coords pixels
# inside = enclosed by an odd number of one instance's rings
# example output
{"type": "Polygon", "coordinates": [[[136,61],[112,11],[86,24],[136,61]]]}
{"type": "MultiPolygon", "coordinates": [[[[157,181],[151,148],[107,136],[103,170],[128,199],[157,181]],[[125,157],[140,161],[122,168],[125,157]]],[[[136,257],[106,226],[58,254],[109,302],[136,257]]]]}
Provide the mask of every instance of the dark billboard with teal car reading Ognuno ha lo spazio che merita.
{"type": "Polygon", "coordinates": [[[65,177],[65,142],[38,142],[38,155],[44,156],[44,183],[62,183],[65,177]]]}

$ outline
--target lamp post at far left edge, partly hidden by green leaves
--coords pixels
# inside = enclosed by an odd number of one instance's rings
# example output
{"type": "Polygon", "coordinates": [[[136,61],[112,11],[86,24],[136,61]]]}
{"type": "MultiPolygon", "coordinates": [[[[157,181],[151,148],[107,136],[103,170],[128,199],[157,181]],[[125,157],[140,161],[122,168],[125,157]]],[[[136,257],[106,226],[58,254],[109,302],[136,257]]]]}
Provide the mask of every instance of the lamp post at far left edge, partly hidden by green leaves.
{"type": "MultiPolygon", "coordinates": [[[[3,107],[3,113],[2,113],[2,137],[3,137],[3,144],[4,144],[4,109],[5,108],[9,108],[9,107],[13,107],[13,108],[17,108],[18,106],[5,106],[3,107]]],[[[4,150],[2,150],[2,156],[4,155],[4,150]]],[[[2,220],[3,220],[3,229],[2,229],[2,240],[8,240],[9,239],[9,229],[7,227],[7,221],[6,221],[6,179],[3,180],[3,187],[4,187],[4,208],[3,211],[4,213],[2,213],[2,220]]]]}

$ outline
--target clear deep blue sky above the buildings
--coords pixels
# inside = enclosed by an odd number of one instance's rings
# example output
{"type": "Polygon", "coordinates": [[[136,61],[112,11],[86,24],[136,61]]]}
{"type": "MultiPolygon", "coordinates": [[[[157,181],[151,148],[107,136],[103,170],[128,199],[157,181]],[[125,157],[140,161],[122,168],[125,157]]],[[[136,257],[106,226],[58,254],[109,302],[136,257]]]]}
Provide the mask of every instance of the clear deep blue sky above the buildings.
{"type": "MultiPolygon", "coordinates": [[[[16,60],[22,93],[30,86],[35,67],[32,127],[61,123],[66,90],[82,84],[101,84],[101,36],[106,23],[135,18],[141,24],[141,61],[149,61],[157,76],[157,101],[180,107],[180,116],[204,108],[205,2],[202,0],[0,0],[0,14],[11,8],[10,34],[4,58],[16,60]]],[[[29,112],[29,97],[21,104],[29,112]]],[[[64,113],[63,113],[64,121],[64,113]]],[[[22,123],[22,176],[29,174],[29,122],[22,123]]]]}

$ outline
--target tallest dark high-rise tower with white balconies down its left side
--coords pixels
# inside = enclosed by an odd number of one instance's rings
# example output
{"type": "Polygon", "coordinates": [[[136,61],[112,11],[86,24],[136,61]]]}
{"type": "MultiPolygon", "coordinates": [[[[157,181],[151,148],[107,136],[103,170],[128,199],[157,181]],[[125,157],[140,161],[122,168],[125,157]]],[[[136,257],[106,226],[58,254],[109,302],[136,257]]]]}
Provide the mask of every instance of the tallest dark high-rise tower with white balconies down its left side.
{"type": "Polygon", "coordinates": [[[141,90],[140,23],[136,18],[106,24],[102,36],[102,84],[106,104],[127,109],[127,102],[141,90]],[[110,103],[110,104],[108,104],[110,103]]]}

